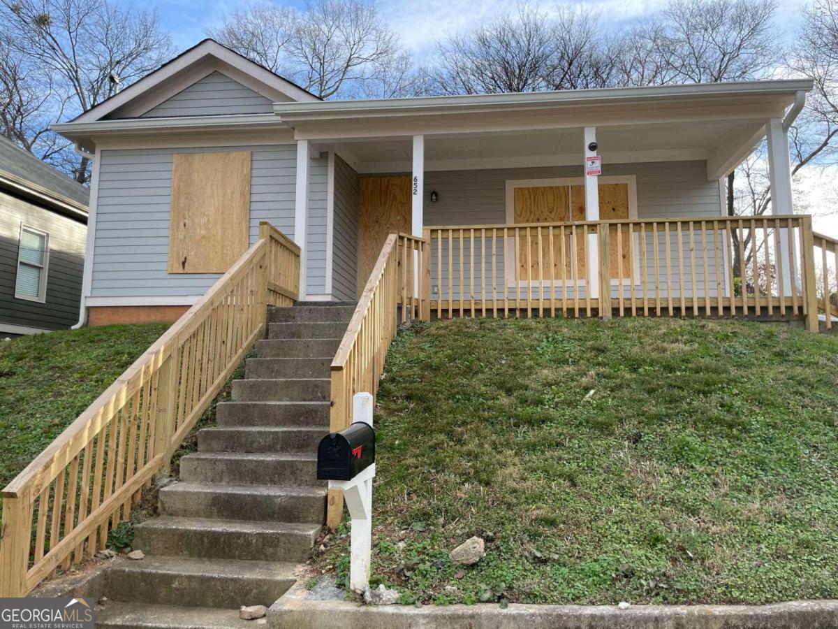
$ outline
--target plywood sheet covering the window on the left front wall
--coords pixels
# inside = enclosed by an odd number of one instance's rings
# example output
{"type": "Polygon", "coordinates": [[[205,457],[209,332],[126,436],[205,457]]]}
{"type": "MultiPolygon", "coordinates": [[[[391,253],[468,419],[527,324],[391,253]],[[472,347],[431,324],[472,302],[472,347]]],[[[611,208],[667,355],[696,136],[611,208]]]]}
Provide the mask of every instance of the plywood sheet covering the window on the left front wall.
{"type": "Polygon", "coordinates": [[[225,273],[247,250],[250,196],[250,151],[174,153],[168,273],[225,273]],[[196,170],[179,171],[189,168],[196,170]],[[189,221],[181,223],[197,207],[204,213],[191,218],[205,222],[196,233],[189,221]]]}

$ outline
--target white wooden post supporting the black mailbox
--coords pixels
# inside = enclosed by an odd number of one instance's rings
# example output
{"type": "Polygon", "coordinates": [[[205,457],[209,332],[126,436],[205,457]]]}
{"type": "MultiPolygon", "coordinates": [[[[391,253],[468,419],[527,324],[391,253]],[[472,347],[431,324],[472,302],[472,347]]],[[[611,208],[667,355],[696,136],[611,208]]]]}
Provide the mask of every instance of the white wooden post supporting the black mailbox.
{"type": "MultiPolygon", "coordinates": [[[[354,422],[372,426],[373,398],[370,393],[355,393],[352,398],[354,422]]],[[[329,489],[344,492],[346,507],[352,522],[349,558],[349,587],[363,592],[370,583],[370,554],[372,552],[372,480],[375,463],[350,481],[328,481],[329,489]]]]}

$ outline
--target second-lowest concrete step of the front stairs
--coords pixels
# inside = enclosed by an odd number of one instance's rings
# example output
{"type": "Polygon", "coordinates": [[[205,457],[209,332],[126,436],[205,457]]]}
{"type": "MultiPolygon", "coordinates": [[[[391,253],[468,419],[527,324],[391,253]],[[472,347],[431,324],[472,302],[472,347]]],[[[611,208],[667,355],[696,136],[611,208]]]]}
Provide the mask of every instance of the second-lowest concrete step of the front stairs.
{"type": "Polygon", "coordinates": [[[143,604],[226,608],[266,605],[296,581],[295,564],[147,556],[108,569],[106,596],[143,604]]]}

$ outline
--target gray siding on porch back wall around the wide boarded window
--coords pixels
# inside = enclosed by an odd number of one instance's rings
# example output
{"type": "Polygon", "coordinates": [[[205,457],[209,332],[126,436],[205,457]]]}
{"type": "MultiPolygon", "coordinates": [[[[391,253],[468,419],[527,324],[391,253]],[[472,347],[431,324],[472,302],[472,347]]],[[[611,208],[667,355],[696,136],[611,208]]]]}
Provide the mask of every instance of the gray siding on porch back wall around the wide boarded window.
{"type": "MultiPolygon", "coordinates": [[[[603,175],[634,174],[637,179],[637,205],[639,218],[663,218],[674,216],[719,216],[722,211],[719,196],[718,181],[707,181],[706,163],[704,161],[673,162],[673,163],[641,163],[641,164],[605,164],[603,175]]],[[[503,224],[506,222],[506,180],[507,179],[546,179],[554,177],[581,177],[581,166],[566,167],[541,167],[530,169],[486,169],[486,170],[452,170],[428,172],[425,175],[426,200],[424,207],[425,225],[480,225],[480,224],[503,224]],[[439,201],[431,203],[428,199],[432,190],[439,193],[439,201]]],[[[456,236],[456,234],[455,234],[456,236]]],[[[468,237],[467,233],[467,237],[468,237]]],[[[682,234],[685,243],[685,295],[691,295],[691,268],[687,261],[689,255],[688,233],[682,234]]],[[[495,253],[497,286],[495,290],[499,295],[503,294],[505,281],[504,247],[498,239],[497,251],[495,253]]],[[[647,272],[649,283],[654,285],[654,255],[653,237],[648,234],[647,250],[649,252],[647,272]]],[[[665,258],[665,235],[658,235],[659,249],[659,278],[661,294],[666,293],[666,258],[665,258]]],[[[639,256],[639,241],[635,241],[636,251],[639,256]]],[[[713,247],[712,237],[708,239],[708,246],[713,247]]],[[[696,235],[696,249],[701,252],[701,236],[696,235]]],[[[491,295],[491,242],[486,243],[486,292],[491,295]]],[[[482,295],[483,289],[483,244],[480,241],[479,233],[474,244],[474,294],[476,297],[482,295]]],[[[513,251],[510,248],[510,252],[513,251]]],[[[670,252],[675,256],[677,251],[677,236],[670,235],[670,252]]],[[[447,242],[442,242],[442,273],[437,268],[437,242],[432,244],[432,283],[440,287],[442,294],[447,299],[447,242]]],[[[510,255],[512,255],[510,253],[510,255]]],[[[703,295],[704,288],[704,267],[701,255],[698,255],[696,263],[696,289],[703,295]]],[[[471,274],[471,251],[469,243],[463,247],[463,277],[464,282],[469,283],[471,274]]],[[[716,264],[712,255],[708,256],[708,276],[711,284],[711,294],[716,294],[716,264]]],[[[453,283],[455,287],[454,299],[459,299],[459,248],[457,242],[453,244],[453,283]]],[[[675,264],[672,275],[672,292],[677,294],[678,287],[678,265],[675,264]]],[[[639,275],[636,276],[639,279],[639,275]]],[[[514,297],[514,288],[508,289],[510,297],[514,297]]],[[[535,294],[537,289],[533,289],[535,294]]],[[[572,294],[572,287],[569,295],[572,294]]],[[[616,296],[618,287],[613,287],[613,294],[616,296]]],[[[468,291],[466,291],[468,294],[468,291]]],[[[545,290],[547,294],[547,290],[545,290]]],[[[584,294],[584,289],[580,289],[584,294]]],[[[629,294],[629,287],[625,287],[625,294],[629,294]]],[[[521,289],[522,297],[525,296],[525,289],[521,289]]],[[[435,299],[432,296],[432,299],[435,299]]]]}

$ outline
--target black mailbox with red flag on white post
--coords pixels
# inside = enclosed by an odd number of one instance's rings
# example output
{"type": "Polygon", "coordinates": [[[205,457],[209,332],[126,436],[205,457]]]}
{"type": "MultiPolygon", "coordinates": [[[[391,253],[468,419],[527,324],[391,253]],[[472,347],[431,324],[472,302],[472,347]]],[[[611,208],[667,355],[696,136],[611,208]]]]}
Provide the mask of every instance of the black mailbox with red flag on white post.
{"type": "Polygon", "coordinates": [[[339,433],[320,439],[317,449],[317,477],[320,481],[351,481],[375,463],[375,430],[355,422],[339,433]]]}

